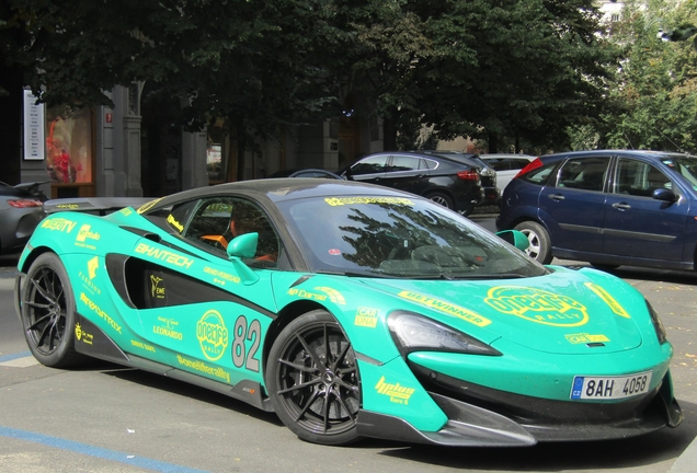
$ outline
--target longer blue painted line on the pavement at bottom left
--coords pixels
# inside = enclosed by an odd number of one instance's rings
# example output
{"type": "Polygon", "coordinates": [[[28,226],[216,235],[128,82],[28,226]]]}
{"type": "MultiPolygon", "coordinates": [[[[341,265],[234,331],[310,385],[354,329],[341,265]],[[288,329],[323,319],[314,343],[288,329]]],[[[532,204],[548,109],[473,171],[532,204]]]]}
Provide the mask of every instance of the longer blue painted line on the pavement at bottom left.
{"type": "Polygon", "coordinates": [[[0,436],[15,438],[19,440],[26,440],[35,443],[43,443],[45,446],[58,448],[61,450],[68,450],[75,453],[87,454],[90,457],[96,457],[104,460],[117,461],[132,466],[138,466],[148,470],[155,470],[165,473],[204,473],[204,470],[190,469],[173,463],[161,462],[159,460],[152,460],[142,457],[134,457],[128,453],[103,449],[100,447],[90,446],[87,443],[80,443],[72,440],[61,439],[58,437],[52,437],[47,435],[36,434],[27,430],[13,429],[9,427],[0,426],[0,436]],[[129,458],[133,457],[133,458],[129,458]]]}

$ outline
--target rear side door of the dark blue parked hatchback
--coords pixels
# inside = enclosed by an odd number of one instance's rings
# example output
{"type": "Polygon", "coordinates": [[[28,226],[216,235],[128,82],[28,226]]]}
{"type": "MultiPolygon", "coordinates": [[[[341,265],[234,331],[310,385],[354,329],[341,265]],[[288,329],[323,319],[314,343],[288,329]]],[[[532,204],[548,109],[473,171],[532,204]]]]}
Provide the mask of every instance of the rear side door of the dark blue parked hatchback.
{"type": "Polygon", "coordinates": [[[539,196],[540,219],[552,247],[574,252],[603,250],[604,192],[610,158],[580,155],[559,169],[553,186],[539,196]]]}

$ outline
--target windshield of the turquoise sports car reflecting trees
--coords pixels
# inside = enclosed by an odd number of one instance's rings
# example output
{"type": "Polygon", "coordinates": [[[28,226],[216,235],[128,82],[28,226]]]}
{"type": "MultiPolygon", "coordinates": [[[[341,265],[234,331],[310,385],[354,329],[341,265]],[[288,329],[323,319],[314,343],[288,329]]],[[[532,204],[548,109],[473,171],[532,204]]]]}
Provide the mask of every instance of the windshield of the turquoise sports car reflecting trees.
{"type": "Polygon", "coordinates": [[[278,205],[318,273],[403,278],[515,278],[547,269],[429,200],[313,197],[278,205]]]}

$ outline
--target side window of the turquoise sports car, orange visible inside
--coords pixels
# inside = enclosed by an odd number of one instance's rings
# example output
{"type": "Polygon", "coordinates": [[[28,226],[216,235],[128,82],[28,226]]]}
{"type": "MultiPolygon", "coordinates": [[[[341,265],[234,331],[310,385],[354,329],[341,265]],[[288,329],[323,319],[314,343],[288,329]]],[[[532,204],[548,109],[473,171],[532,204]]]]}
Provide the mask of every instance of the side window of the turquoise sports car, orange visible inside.
{"type": "Polygon", "coordinates": [[[259,233],[259,243],[254,257],[245,259],[245,263],[256,267],[276,267],[278,235],[262,209],[245,199],[215,197],[201,200],[184,238],[197,246],[205,244],[212,253],[227,258],[228,243],[250,232],[259,233]]]}

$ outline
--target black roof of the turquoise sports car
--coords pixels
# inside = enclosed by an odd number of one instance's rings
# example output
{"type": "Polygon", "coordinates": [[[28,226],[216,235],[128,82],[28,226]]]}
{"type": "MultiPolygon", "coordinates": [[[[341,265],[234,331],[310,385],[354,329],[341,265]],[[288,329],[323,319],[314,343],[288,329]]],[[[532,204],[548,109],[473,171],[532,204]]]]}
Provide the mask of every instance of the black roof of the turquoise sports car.
{"type": "Polygon", "coordinates": [[[248,196],[256,201],[279,203],[306,197],[335,197],[335,196],[387,196],[409,197],[418,199],[413,194],[405,194],[389,187],[363,184],[343,180],[319,180],[316,177],[277,177],[252,181],[239,181],[218,184],[209,187],[197,187],[158,199],[148,209],[157,209],[171,206],[176,203],[193,200],[202,197],[215,197],[217,195],[238,194],[248,196]]]}

